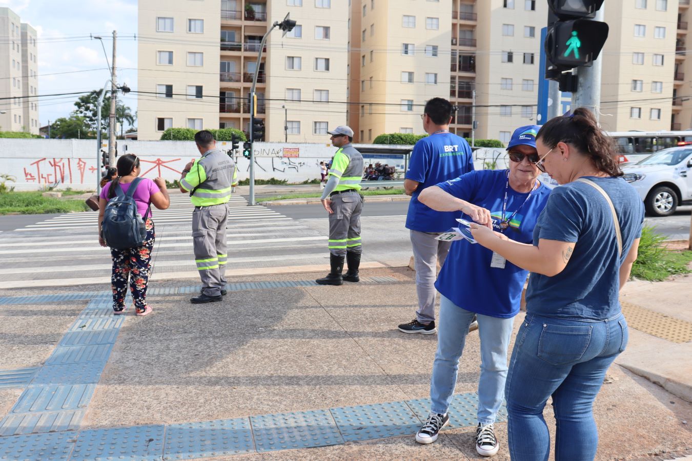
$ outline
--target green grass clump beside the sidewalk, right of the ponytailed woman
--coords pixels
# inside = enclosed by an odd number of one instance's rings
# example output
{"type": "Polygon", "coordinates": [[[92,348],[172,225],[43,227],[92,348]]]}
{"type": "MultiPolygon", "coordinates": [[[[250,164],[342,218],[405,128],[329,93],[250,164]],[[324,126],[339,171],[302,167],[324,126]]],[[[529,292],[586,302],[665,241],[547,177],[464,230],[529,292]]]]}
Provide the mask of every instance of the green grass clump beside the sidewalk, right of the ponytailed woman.
{"type": "Polygon", "coordinates": [[[659,282],[675,274],[689,274],[692,252],[667,250],[666,238],[655,232],[653,227],[641,229],[637,261],[632,265],[632,277],[659,282]]]}

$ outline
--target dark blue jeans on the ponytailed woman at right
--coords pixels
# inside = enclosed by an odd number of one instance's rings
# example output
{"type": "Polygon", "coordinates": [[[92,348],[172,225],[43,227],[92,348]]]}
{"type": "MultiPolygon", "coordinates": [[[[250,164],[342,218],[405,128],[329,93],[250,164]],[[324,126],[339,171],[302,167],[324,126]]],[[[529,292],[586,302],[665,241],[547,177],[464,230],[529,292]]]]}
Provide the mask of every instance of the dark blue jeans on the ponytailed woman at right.
{"type": "Polygon", "coordinates": [[[505,390],[513,461],[548,459],[550,435],[543,408],[551,396],[555,460],[594,459],[599,438],[594,399],[627,339],[622,314],[603,321],[527,314],[514,344],[505,390]]]}

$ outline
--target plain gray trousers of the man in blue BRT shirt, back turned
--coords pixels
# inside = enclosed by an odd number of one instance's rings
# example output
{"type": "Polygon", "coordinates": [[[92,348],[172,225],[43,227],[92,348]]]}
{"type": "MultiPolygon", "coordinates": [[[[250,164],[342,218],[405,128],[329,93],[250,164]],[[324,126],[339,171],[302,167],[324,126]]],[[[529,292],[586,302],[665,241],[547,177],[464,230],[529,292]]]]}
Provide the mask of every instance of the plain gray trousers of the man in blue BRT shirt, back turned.
{"type": "Polygon", "coordinates": [[[430,323],[435,320],[437,262],[439,261],[439,267],[442,267],[452,243],[435,240],[441,234],[439,232],[411,230],[410,233],[413,265],[416,270],[416,291],[418,293],[416,318],[420,323],[430,323]]]}

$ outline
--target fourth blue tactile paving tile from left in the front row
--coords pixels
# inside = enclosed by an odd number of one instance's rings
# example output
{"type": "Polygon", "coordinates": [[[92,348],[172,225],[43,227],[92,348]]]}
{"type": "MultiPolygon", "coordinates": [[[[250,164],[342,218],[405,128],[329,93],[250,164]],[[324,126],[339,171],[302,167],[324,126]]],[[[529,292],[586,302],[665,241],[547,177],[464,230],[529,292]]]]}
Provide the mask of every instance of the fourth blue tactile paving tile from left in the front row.
{"type": "Polygon", "coordinates": [[[328,410],[251,416],[250,420],[260,452],[344,443],[328,410]]]}

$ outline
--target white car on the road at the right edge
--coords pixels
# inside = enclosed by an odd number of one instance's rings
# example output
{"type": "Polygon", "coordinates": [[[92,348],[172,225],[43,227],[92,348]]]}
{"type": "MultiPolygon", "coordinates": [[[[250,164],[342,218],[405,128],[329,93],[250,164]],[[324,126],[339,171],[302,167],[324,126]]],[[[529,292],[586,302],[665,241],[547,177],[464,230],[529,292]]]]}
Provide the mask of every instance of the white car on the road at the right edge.
{"type": "Polygon", "coordinates": [[[622,165],[624,179],[637,189],[651,216],[668,216],[692,203],[692,147],[663,149],[622,165]]]}

